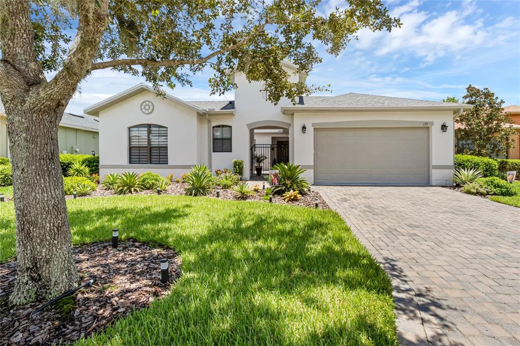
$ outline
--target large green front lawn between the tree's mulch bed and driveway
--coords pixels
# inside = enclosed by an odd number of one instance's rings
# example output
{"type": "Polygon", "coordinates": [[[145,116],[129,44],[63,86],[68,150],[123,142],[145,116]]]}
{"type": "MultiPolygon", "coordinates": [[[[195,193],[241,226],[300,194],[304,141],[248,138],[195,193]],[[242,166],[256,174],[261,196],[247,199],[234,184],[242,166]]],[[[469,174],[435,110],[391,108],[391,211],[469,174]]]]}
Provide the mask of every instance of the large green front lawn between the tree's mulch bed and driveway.
{"type": "MultiPolygon", "coordinates": [[[[79,344],[396,345],[391,281],[335,212],[187,196],[68,201],[74,244],[177,249],[169,296],[79,344]]],[[[1,260],[15,255],[0,205],[1,260]]]]}

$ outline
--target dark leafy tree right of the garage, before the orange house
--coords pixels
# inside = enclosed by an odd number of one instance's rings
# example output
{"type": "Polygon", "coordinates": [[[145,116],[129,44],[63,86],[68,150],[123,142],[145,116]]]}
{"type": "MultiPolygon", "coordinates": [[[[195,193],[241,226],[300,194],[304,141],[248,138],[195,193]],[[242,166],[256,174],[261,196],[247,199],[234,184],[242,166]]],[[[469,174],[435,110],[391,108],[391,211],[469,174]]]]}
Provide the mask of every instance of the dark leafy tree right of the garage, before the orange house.
{"type": "Polygon", "coordinates": [[[473,104],[472,109],[462,112],[455,122],[462,125],[455,130],[458,152],[477,156],[505,155],[513,147],[510,136],[513,119],[503,112],[504,100],[499,100],[488,88],[482,90],[472,86],[466,88],[464,103],[473,104]],[[468,145],[472,143],[472,145],[468,145]]]}

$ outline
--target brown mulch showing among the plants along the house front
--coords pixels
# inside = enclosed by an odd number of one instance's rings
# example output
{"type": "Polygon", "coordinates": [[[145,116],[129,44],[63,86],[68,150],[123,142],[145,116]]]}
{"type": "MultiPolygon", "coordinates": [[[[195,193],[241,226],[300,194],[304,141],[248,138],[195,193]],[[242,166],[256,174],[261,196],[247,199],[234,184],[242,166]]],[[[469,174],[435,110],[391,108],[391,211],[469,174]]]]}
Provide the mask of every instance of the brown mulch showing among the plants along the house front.
{"type": "MultiPolygon", "coordinates": [[[[250,184],[254,185],[255,182],[250,182],[250,184]]],[[[261,201],[268,203],[269,201],[264,199],[265,191],[262,190],[263,184],[262,182],[258,182],[258,185],[260,187],[260,190],[258,192],[255,192],[254,195],[249,196],[245,201],[261,201]]],[[[187,183],[184,182],[172,182],[168,188],[161,192],[163,195],[185,195],[184,189],[188,186],[187,183]]],[[[268,187],[268,185],[266,185],[268,187]]],[[[136,195],[154,195],[157,194],[157,191],[155,190],[144,190],[135,193],[136,195]]],[[[89,198],[89,197],[107,197],[107,196],[115,196],[113,190],[106,190],[102,187],[102,185],[98,185],[98,188],[96,191],[92,192],[90,195],[87,196],[77,196],[77,198],[89,198]]],[[[216,190],[213,190],[211,194],[208,196],[215,197],[217,196],[216,190]]],[[[67,199],[73,198],[72,196],[66,196],[67,199]]],[[[228,199],[236,201],[237,198],[235,197],[235,192],[231,189],[222,189],[220,190],[220,199],[228,199]]],[[[317,191],[310,191],[304,195],[301,195],[301,198],[298,201],[293,202],[285,202],[280,195],[273,195],[272,196],[272,203],[278,203],[278,204],[286,204],[286,205],[296,205],[296,206],[303,206],[303,207],[312,207],[314,208],[315,203],[318,202],[318,207],[320,209],[330,209],[329,205],[325,202],[323,197],[319,194],[317,191]]]]}

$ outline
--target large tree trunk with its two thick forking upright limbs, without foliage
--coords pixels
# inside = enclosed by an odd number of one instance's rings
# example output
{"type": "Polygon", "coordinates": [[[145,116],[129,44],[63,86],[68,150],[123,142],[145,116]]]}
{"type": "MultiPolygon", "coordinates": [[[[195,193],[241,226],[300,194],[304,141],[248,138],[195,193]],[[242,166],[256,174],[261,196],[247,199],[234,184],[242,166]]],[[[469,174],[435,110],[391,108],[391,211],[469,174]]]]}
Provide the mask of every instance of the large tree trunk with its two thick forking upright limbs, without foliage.
{"type": "Polygon", "coordinates": [[[28,0],[0,0],[0,94],[13,164],[18,278],[11,302],[53,298],[77,284],[58,155],[58,125],[90,71],[110,21],[107,0],[74,3],[67,59],[47,82],[34,49],[28,0]]]}

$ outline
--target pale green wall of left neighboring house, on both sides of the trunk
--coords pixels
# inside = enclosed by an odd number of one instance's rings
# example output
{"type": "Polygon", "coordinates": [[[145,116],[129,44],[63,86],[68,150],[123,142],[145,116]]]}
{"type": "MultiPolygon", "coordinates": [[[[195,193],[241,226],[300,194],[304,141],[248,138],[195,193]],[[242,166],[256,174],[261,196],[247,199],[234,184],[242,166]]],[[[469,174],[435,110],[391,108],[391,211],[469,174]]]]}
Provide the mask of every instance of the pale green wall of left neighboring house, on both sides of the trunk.
{"type": "MultiPolygon", "coordinates": [[[[59,126],[58,146],[60,153],[66,150],[69,154],[91,154],[94,150],[99,155],[99,134],[96,131],[59,126]]],[[[7,157],[7,153],[7,125],[0,119],[0,157],[7,157]]]]}

